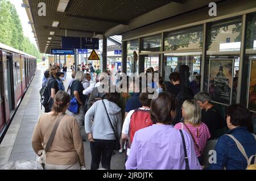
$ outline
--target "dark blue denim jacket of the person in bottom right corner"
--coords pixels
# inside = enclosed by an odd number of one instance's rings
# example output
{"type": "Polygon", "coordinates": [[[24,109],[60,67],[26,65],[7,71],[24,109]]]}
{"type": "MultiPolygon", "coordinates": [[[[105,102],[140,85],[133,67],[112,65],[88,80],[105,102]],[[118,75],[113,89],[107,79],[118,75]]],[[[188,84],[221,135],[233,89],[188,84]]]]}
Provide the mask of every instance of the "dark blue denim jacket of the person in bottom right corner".
{"type": "MultiPolygon", "coordinates": [[[[255,137],[247,130],[246,127],[237,127],[230,130],[227,134],[232,134],[243,146],[247,157],[256,154],[255,137]]],[[[236,142],[229,136],[221,136],[215,146],[217,153],[216,163],[210,164],[210,170],[245,170],[247,167],[246,158],[237,148],[236,142]]],[[[254,159],[253,159],[254,161],[254,159]]]]}

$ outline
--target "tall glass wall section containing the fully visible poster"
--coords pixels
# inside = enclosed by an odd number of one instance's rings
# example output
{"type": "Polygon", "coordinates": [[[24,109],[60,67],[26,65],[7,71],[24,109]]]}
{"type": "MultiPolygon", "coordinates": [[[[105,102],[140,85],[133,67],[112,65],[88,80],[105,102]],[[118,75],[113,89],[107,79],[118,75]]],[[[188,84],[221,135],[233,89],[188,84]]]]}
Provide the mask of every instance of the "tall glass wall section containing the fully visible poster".
{"type": "Polygon", "coordinates": [[[209,91],[213,102],[226,106],[237,98],[241,22],[240,16],[207,24],[204,91],[209,91]]]}

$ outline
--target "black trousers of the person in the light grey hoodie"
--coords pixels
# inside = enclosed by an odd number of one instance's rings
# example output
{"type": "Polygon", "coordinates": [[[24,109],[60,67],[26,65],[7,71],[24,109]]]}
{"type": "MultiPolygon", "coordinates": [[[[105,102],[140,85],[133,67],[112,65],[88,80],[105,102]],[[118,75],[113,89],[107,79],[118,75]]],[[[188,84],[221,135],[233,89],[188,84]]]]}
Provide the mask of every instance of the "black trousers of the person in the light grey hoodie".
{"type": "Polygon", "coordinates": [[[114,150],[115,140],[98,140],[93,139],[95,142],[90,142],[90,152],[92,154],[91,170],[96,170],[100,166],[110,170],[110,161],[114,150]]]}

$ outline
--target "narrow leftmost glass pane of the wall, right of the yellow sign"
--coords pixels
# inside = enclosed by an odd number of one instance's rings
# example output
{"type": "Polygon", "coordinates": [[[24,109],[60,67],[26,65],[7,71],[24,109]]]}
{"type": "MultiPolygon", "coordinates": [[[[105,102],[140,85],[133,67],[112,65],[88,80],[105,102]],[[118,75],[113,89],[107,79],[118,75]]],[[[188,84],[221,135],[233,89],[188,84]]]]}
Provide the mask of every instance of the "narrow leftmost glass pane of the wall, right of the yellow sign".
{"type": "Polygon", "coordinates": [[[139,40],[127,41],[127,75],[138,72],[139,40]]]}

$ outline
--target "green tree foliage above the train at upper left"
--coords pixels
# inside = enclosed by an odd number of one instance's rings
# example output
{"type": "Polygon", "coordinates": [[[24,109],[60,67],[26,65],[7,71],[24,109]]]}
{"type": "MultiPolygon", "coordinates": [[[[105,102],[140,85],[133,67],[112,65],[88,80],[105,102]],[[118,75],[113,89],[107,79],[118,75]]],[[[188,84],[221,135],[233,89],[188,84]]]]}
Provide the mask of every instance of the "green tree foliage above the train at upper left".
{"type": "Polygon", "coordinates": [[[42,58],[36,46],[23,35],[22,24],[15,6],[7,0],[0,0],[0,43],[36,58],[42,58]]]}

